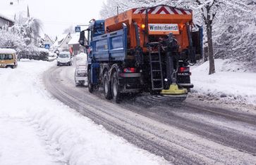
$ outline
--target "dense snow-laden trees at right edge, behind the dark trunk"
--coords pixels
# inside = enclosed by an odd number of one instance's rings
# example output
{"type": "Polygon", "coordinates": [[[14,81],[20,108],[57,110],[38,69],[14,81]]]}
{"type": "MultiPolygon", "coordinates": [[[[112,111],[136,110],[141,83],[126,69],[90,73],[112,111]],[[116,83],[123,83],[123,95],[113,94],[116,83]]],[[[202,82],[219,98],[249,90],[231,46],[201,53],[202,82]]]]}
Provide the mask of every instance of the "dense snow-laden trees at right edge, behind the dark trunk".
{"type": "Polygon", "coordinates": [[[216,58],[233,58],[256,69],[256,1],[243,1],[252,10],[220,13],[213,28],[216,58]]]}

